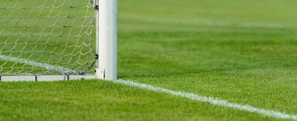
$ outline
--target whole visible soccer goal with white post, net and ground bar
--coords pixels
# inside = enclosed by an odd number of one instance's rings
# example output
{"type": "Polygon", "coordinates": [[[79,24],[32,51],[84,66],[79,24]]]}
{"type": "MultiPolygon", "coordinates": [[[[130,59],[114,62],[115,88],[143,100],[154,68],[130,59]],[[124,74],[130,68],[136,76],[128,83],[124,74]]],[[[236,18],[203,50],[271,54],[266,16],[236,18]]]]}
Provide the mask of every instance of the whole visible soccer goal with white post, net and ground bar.
{"type": "Polygon", "coordinates": [[[1,0],[0,22],[0,81],[117,79],[117,0],[1,0]]]}

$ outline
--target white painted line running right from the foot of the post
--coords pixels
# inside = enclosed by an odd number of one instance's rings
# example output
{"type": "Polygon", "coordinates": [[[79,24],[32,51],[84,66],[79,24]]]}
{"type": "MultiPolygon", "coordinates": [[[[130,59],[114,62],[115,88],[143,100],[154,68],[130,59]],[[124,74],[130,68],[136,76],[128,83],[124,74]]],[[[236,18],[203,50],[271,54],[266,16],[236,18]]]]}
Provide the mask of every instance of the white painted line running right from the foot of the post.
{"type": "Polygon", "coordinates": [[[138,83],[138,82],[134,82],[134,81],[115,80],[112,82],[130,85],[130,86],[134,86],[134,87],[140,87],[140,88],[144,88],[144,89],[148,89],[148,90],[152,90],[152,91],[156,91],[156,92],[163,92],[163,93],[167,93],[167,94],[171,94],[171,95],[175,95],[175,96],[181,96],[181,97],[185,97],[185,98],[192,99],[192,100],[208,102],[212,105],[223,106],[223,107],[234,108],[234,109],[238,109],[238,110],[242,110],[242,111],[248,111],[251,113],[262,114],[262,115],[265,115],[268,117],[297,120],[297,115],[290,115],[290,114],[286,114],[284,112],[277,112],[277,111],[272,111],[272,110],[255,108],[250,105],[240,105],[237,103],[230,103],[226,100],[220,100],[220,99],[213,98],[213,97],[200,96],[200,95],[197,95],[194,93],[173,91],[173,90],[161,88],[158,86],[153,86],[153,85],[144,84],[144,83],[138,83]]]}

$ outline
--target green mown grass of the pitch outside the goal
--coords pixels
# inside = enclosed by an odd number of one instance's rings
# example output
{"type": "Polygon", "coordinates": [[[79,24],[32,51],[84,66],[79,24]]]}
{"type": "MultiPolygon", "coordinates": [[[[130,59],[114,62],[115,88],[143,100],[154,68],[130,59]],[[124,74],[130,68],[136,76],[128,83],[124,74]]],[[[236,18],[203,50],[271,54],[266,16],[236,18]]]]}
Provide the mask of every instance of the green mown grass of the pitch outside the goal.
{"type": "MultiPolygon", "coordinates": [[[[296,0],[119,0],[118,78],[297,117],[296,8],[296,0]]],[[[294,119],[123,82],[0,82],[0,121],[70,120],[294,119]]]]}

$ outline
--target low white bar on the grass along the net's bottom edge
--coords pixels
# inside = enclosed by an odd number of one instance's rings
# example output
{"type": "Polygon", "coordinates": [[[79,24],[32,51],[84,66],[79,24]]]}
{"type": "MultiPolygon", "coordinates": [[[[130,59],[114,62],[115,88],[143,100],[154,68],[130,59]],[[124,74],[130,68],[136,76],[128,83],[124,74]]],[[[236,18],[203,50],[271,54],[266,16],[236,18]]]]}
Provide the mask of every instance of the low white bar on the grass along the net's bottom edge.
{"type": "Polygon", "coordinates": [[[98,76],[85,75],[45,75],[45,76],[0,76],[0,81],[67,81],[67,80],[88,80],[99,79],[98,76]]]}

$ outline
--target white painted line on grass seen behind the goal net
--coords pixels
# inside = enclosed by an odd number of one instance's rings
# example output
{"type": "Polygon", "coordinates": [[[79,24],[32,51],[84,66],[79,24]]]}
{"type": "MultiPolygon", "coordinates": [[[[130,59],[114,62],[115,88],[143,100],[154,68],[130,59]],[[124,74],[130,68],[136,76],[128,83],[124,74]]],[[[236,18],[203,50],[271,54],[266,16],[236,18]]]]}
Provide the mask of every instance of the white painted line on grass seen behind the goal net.
{"type": "Polygon", "coordinates": [[[16,58],[16,57],[13,57],[11,55],[6,56],[6,55],[3,55],[3,54],[0,54],[0,59],[8,60],[8,61],[11,61],[11,62],[17,62],[17,63],[20,63],[20,64],[26,64],[26,65],[30,65],[30,66],[35,66],[35,67],[41,67],[41,68],[44,68],[44,69],[65,70],[65,72],[70,72],[68,69],[63,68],[63,67],[53,66],[53,65],[50,65],[50,64],[44,64],[44,63],[35,62],[35,61],[28,61],[26,59],[16,58]]]}

